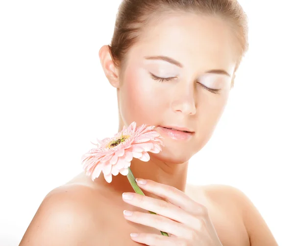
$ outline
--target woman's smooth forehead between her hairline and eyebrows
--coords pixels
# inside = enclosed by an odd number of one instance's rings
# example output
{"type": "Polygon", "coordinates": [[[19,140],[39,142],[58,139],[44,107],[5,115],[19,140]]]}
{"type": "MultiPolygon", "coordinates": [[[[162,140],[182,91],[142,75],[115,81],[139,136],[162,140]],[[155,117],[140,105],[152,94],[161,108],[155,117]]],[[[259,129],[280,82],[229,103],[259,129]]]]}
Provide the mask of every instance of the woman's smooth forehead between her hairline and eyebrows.
{"type": "Polygon", "coordinates": [[[163,55],[184,67],[233,70],[236,51],[231,28],[228,21],[218,16],[163,14],[148,22],[128,56],[139,60],[144,56],[163,55]]]}

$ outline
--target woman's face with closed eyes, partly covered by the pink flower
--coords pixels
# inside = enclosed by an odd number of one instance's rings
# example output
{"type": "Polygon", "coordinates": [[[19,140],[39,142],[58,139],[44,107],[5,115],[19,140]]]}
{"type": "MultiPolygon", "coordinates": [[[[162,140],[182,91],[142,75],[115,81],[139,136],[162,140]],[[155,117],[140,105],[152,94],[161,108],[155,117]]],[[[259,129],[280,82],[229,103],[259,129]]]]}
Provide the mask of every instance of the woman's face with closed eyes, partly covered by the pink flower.
{"type": "Polygon", "coordinates": [[[123,125],[155,125],[165,145],[156,158],[189,160],[221,117],[236,58],[233,34],[220,18],[166,15],[150,23],[128,51],[120,78],[123,125]]]}

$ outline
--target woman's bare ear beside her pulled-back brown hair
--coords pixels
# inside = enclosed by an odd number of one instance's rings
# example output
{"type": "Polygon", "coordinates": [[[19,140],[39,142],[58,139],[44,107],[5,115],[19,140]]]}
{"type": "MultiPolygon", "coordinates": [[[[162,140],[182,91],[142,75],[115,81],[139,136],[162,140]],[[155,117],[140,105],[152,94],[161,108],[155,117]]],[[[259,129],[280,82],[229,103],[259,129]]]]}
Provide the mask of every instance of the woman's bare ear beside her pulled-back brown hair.
{"type": "Polygon", "coordinates": [[[99,50],[99,58],[104,70],[104,73],[109,80],[110,84],[119,88],[120,79],[119,79],[119,69],[115,66],[108,45],[103,45],[99,50]]]}

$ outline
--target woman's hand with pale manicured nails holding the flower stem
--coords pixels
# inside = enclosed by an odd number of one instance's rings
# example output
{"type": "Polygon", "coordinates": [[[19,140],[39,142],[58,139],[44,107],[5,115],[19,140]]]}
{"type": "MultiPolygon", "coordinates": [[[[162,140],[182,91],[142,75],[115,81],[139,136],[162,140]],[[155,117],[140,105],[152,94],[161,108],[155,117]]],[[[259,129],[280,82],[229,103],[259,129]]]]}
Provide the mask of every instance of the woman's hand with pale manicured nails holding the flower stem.
{"type": "Polygon", "coordinates": [[[123,201],[156,213],[125,210],[124,218],[170,233],[171,237],[139,233],[135,237],[131,235],[132,240],[149,246],[222,246],[204,205],[172,186],[149,179],[136,180],[141,189],[167,201],[137,193],[123,193],[123,201]],[[140,184],[139,181],[145,181],[146,184],[140,184]],[[125,199],[124,194],[130,195],[131,199],[125,199]],[[127,212],[132,215],[127,216],[127,212]]]}

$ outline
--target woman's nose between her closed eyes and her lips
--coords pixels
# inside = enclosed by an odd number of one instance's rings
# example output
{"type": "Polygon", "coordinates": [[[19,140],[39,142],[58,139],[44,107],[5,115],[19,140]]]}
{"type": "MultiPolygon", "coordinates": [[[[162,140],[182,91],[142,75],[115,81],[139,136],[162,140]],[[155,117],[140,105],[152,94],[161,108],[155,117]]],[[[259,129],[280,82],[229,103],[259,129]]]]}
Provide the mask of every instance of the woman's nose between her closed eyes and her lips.
{"type": "Polygon", "coordinates": [[[180,85],[175,89],[172,100],[172,111],[187,115],[196,114],[195,90],[192,85],[180,85]]]}

